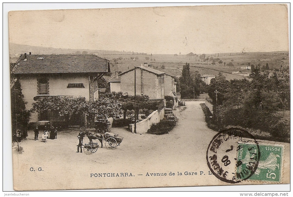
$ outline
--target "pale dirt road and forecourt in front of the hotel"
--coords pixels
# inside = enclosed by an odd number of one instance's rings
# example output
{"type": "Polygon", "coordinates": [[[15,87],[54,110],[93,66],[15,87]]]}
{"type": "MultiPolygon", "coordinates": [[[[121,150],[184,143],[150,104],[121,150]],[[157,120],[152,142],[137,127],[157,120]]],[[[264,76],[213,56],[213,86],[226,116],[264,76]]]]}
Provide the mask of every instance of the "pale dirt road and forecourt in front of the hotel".
{"type": "Polygon", "coordinates": [[[21,143],[23,154],[13,151],[15,189],[227,185],[207,167],[207,147],[216,132],[207,128],[200,103],[186,102],[186,107],[177,108],[178,125],[169,134],[138,135],[111,128],[124,137],[121,146],[98,148],[91,155],[76,153],[78,130],[59,132],[56,140],[46,144],[33,140],[33,132],[29,132],[28,140],[21,143]]]}

